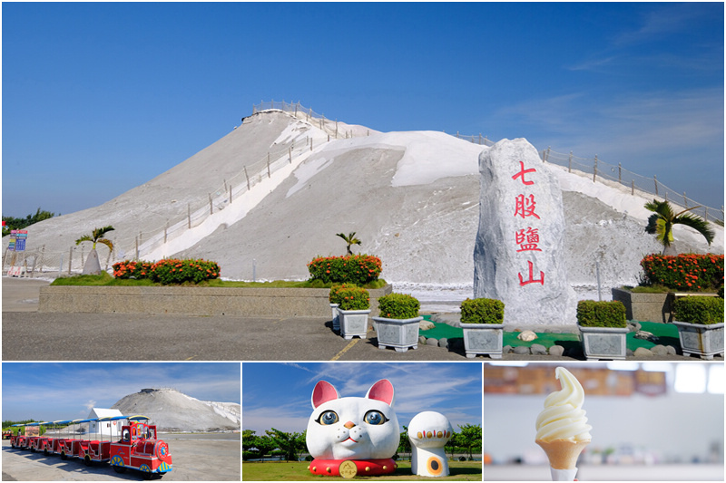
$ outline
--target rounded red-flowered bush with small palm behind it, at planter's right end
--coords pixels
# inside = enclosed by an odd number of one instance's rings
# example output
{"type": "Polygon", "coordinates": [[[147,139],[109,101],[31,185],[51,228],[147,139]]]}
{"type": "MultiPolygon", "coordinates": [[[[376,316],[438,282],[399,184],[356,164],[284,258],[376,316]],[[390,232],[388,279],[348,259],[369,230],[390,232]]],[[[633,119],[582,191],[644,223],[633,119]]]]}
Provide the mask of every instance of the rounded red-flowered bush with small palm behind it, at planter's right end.
{"type": "Polygon", "coordinates": [[[308,264],[310,280],[323,284],[366,285],[378,280],[381,272],[378,256],[319,256],[308,264]]]}

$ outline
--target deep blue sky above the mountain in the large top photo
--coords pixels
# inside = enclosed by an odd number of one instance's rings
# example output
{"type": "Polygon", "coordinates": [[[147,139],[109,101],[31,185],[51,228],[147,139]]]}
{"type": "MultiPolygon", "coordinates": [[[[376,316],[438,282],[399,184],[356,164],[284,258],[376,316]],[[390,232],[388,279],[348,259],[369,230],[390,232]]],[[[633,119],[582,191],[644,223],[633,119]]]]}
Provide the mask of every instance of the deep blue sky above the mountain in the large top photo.
{"type": "Polygon", "coordinates": [[[524,137],[723,204],[724,5],[4,3],[3,208],[91,208],[260,101],[524,137]]]}

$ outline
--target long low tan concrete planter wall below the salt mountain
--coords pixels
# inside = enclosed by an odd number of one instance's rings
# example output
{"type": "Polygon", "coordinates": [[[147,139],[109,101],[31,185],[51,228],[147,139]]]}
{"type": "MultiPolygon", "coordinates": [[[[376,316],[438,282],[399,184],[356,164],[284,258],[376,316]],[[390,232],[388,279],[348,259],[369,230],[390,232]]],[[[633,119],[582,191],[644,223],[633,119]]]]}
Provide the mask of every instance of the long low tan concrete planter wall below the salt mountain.
{"type": "MultiPolygon", "coordinates": [[[[378,297],[391,291],[390,285],[369,290],[371,306],[378,307],[378,297]]],[[[46,286],[40,289],[38,310],[327,318],[330,315],[329,293],[328,288],[46,286]]]]}

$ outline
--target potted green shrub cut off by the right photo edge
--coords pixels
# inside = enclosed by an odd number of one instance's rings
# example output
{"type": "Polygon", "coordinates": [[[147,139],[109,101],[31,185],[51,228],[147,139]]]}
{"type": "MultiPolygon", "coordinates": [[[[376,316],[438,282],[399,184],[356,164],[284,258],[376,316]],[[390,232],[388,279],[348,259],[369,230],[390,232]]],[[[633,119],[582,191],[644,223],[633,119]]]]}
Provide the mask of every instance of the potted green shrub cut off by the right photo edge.
{"type": "Polygon", "coordinates": [[[723,354],[723,298],[692,295],[676,299],[673,305],[683,355],[711,360],[714,354],[723,354]]]}

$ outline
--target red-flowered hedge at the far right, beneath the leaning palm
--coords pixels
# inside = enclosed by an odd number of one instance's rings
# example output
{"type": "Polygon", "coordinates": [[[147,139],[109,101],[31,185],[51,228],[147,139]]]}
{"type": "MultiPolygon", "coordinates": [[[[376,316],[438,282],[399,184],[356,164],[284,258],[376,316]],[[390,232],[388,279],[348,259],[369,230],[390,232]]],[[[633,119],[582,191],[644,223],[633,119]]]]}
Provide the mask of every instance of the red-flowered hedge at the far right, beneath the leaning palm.
{"type": "Polygon", "coordinates": [[[718,290],[723,286],[722,255],[649,255],[641,260],[650,285],[673,290],[718,290]]]}

